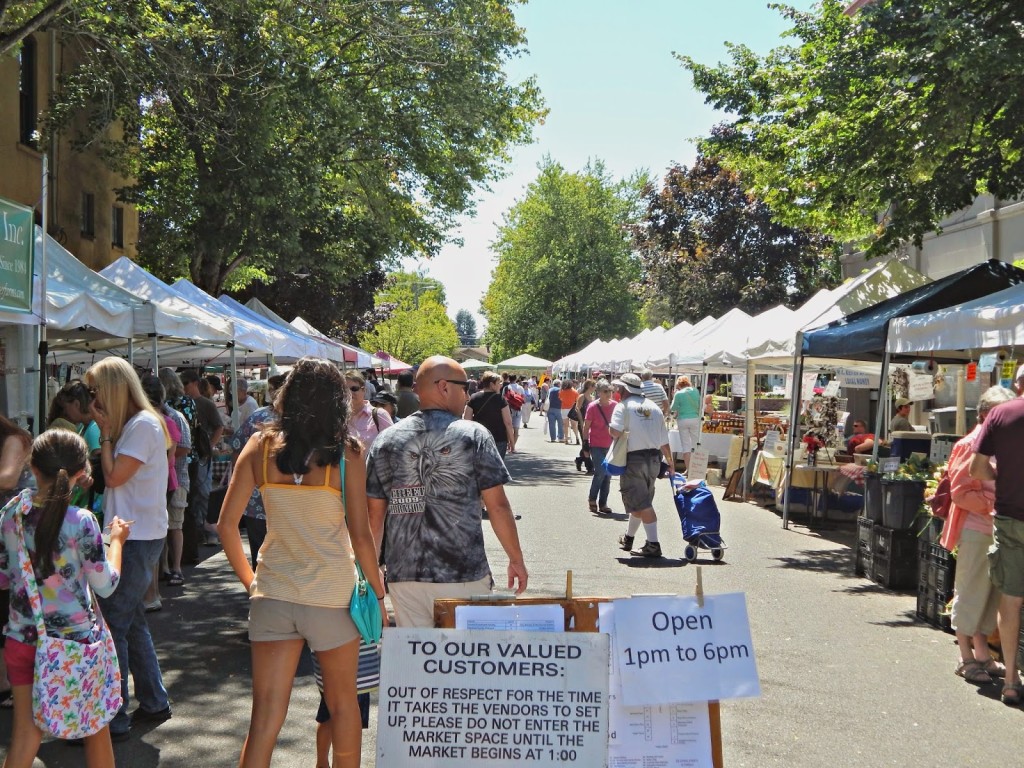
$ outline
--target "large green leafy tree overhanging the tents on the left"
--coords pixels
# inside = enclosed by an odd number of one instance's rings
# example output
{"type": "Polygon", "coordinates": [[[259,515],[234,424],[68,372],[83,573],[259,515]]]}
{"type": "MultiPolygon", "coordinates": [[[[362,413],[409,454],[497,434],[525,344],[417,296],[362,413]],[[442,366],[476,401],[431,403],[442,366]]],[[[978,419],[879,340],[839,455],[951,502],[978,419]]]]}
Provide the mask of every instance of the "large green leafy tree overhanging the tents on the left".
{"type": "Polygon", "coordinates": [[[135,182],[139,258],[218,293],[242,267],[332,280],[430,255],[543,115],[503,67],[518,0],[130,0],[61,16],[84,66],[53,124],[135,182]],[[122,142],[103,142],[112,120],[122,142]]]}

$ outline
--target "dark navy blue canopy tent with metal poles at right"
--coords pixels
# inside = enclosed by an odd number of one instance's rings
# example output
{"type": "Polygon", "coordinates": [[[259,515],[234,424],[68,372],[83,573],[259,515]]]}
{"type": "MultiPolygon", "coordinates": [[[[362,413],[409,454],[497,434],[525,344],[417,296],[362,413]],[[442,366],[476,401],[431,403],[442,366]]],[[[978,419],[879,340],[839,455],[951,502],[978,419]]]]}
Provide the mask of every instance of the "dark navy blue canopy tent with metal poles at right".
{"type": "MultiPolygon", "coordinates": [[[[881,361],[881,384],[884,388],[889,372],[890,355],[887,353],[887,348],[892,321],[911,314],[957,307],[1022,283],[1024,283],[1024,269],[1004,261],[989,259],[854,312],[824,328],[808,331],[803,335],[802,355],[794,373],[794,408],[791,423],[796,423],[805,357],[881,361]]],[[[936,353],[934,358],[939,361],[945,359],[940,353],[936,353]]],[[[956,358],[955,355],[952,356],[952,359],[956,358]]],[[[880,398],[876,434],[886,433],[885,420],[888,411],[884,398],[880,398]]],[[[792,429],[786,460],[790,474],[796,453],[796,440],[797,430],[792,429]]],[[[874,456],[878,457],[878,443],[874,456]]],[[[788,506],[790,499],[786,494],[782,507],[784,527],[788,526],[788,506]]]]}

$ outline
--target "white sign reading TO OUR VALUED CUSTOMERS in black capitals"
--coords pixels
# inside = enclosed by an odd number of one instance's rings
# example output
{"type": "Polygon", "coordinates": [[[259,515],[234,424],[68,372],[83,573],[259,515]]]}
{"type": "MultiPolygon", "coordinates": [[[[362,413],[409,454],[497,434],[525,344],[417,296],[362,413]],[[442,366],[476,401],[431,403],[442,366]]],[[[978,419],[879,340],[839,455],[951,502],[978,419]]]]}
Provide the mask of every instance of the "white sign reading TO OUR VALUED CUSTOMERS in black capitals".
{"type": "Polygon", "coordinates": [[[607,762],[608,635],[391,629],[378,768],[607,762]]]}

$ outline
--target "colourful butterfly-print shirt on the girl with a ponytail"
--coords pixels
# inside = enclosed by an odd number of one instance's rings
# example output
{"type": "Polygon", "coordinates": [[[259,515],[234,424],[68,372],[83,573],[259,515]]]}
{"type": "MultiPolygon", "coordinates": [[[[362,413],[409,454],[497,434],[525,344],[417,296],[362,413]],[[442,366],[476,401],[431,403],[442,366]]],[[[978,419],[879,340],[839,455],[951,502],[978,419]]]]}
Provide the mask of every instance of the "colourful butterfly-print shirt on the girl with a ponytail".
{"type": "MultiPolygon", "coordinates": [[[[0,589],[10,590],[10,615],[4,635],[35,645],[36,620],[17,561],[18,536],[14,519],[17,507],[17,501],[12,500],[0,519],[0,589]]],[[[41,508],[33,507],[24,520],[30,556],[35,551],[36,526],[41,513],[41,508]]],[[[53,561],[53,574],[45,582],[36,580],[46,632],[80,640],[88,636],[96,624],[86,584],[100,597],[108,597],[118,586],[120,573],[106,561],[99,523],[86,509],[68,508],[54,551],[57,556],[53,561]]]]}

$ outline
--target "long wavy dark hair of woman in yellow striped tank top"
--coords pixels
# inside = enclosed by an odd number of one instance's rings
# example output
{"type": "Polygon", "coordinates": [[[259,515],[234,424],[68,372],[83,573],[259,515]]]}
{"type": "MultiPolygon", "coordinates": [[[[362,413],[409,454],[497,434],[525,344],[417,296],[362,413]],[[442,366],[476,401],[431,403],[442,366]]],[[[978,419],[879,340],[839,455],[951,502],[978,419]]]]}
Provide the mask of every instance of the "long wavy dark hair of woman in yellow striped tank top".
{"type": "Polygon", "coordinates": [[[359,452],[348,433],[349,411],[348,386],[337,367],[319,357],[299,359],[274,399],[274,419],[263,430],[280,444],[278,469],[304,475],[310,461],[318,467],[337,464],[346,443],[359,452]]]}

